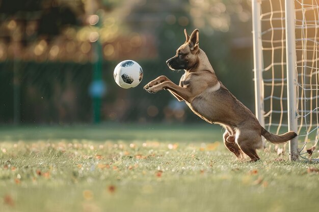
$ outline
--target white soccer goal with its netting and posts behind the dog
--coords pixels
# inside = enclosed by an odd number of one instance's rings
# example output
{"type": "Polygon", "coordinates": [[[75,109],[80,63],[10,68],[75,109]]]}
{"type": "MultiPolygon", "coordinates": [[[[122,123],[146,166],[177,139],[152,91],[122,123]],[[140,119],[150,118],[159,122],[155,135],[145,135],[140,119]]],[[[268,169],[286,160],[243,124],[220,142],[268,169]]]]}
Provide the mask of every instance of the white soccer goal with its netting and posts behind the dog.
{"type": "Polygon", "coordinates": [[[253,0],[256,115],[272,133],[288,128],[297,131],[297,157],[309,160],[319,156],[315,149],[319,126],[318,4],[316,0],[253,0]],[[293,86],[287,88],[289,83],[293,86]],[[295,119],[289,119],[289,112],[295,119]]]}

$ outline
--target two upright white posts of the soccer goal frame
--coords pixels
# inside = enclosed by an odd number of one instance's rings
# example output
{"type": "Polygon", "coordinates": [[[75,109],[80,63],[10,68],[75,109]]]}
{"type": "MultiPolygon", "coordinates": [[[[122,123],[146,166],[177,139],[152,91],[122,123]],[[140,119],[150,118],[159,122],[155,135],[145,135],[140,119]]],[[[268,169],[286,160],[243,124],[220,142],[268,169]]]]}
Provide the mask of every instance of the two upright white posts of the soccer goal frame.
{"type": "MultiPolygon", "coordinates": [[[[284,0],[285,4],[285,47],[286,47],[286,74],[287,74],[287,115],[288,130],[298,131],[297,119],[297,62],[295,36],[295,1],[284,0]]],[[[253,61],[254,61],[254,88],[255,113],[262,127],[264,124],[264,87],[263,87],[263,55],[261,37],[261,0],[252,0],[252,27],[253,27],[253,61]]],[[[263,145],[265,142],[263,140],[263,145]]],[[[289,159],[298,160],[298,138],[289,141],[289,159]]]]}

